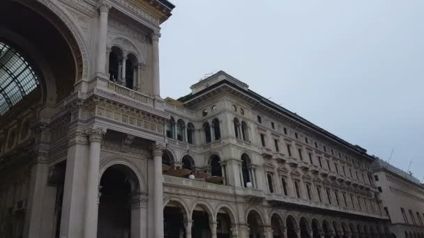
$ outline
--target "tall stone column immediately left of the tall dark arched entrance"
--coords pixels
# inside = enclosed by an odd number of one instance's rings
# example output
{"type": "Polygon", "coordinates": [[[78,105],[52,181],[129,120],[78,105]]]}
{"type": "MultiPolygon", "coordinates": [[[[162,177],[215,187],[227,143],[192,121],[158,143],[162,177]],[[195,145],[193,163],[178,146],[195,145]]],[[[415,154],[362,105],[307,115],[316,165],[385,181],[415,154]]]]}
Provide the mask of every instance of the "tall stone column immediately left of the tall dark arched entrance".
{"type": "Polygon", "coordinates": [[[89,167],[87,173],[85,219],[84,219],[84,238],[97,237],[98,220],[98,198],[99,198],[99,179],[100,179],[100,142],[102,141],[105,129],[100,127],[91,127],[87,129],[89,136],[89,167]]]}

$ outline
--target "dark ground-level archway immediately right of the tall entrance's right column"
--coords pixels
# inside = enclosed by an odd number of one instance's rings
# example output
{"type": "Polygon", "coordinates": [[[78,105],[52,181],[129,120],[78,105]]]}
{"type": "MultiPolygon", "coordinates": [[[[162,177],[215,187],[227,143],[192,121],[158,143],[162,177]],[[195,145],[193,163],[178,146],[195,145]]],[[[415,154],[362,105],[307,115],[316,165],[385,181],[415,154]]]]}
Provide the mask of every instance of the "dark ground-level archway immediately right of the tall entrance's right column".
{"type": "Polygon", "coordinates": [[[178,201],[171,200],[163,208],[163,237],[185,237],[187,211],[178,201]]]}

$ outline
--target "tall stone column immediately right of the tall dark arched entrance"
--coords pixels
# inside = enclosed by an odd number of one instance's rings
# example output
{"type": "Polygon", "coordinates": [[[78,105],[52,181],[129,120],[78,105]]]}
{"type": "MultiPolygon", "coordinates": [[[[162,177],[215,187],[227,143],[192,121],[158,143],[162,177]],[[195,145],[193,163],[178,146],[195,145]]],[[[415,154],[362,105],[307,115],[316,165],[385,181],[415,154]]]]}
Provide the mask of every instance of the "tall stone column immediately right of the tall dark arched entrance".
{"type": "Polygon", "coordinates": [[[155,143],[153,145],[154,164],[154,188],[153,188],[153,214],[154,214],[154,237],[163,237],[163,187],[162,187],[162,154],[165,145],[155,143]]]}

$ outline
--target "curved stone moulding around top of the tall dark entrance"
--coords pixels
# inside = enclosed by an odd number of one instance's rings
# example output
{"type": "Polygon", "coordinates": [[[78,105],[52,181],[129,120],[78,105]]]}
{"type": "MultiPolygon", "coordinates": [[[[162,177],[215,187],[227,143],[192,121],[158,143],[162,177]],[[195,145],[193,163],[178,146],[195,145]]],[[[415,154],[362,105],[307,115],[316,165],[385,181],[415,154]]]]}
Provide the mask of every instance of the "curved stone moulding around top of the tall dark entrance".
{"type": "Polygon", "coordinates": [[[102,159],[100,161],[100,177],[102,177],[103,173],[105,173],[105,170],[107,170],[107,168],[111,166],[115,166],[115,165],[126,166],[130,170],[132,170],[132,173],[134,173],[134,175],[137,177],[137,181],[139,183],[139,191],[140,192],[147,191],[144,174],[142,173],[141,170],[139,170],[139,168],[132,161],[130,161],[130,159],[125,159],[118,156],[112,156],[112,157],[107,157],[105,159],[102,159]]]}

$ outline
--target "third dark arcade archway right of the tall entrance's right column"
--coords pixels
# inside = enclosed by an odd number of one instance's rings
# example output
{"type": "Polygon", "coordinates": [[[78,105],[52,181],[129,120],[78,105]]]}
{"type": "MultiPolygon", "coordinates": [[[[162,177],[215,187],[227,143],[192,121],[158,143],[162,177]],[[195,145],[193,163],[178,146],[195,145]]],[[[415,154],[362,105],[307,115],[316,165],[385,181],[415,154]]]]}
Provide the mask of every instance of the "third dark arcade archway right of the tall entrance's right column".
{"type": "Polygon", "coordinates": [[[220,207],[216,214],[216,237],[230,238],[236,225],[234,214],[228,207],[220,207]]]}

